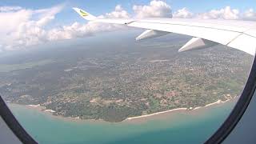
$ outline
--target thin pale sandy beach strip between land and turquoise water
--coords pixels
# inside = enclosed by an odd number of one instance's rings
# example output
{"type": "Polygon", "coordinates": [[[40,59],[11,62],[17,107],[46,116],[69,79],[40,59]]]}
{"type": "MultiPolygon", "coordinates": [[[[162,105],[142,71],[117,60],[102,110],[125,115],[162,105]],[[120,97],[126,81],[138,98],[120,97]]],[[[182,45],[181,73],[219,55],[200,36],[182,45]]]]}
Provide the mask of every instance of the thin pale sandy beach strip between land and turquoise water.
{"type": "MultiPolygon", "coordinates": [[[[161,115],[161,114],[171,114],[175,111],[199,110],[199,109],[206,108],[206,107],[209,107],[209,106],[215,106],[215,105],[222,104],[222,103],[225,103],[225,102],[230,102],[230,100],[234,100],[234,99],[236,99],[236,98],[230,98],[230,99],[227,99],[226,101],[222,101],[222,100],[218,99],[218,101],[209,103],[206,106],[197,106],[197,107],[194,107],[194,108],[193,107],[190,107],[190,108],[182,107],[182,108],[176,108],[176,109],[172,109],[172,110],[160,111],[160,112],[153,113],[153,114],[145,114],[145,115],[140,115],[140,116],[136,116],[136,117],[130,117],[130,118],[126,118],[122,122],[131,122],[132,120],[137,120],[137,119],[142,119],[142,118],[150,118],[150,117],[154,117],[156,115],[161,115]]],[[[11,103],[11,104],[15,104],[15,103],[11,103]]],[[[48,109],[46,109],[45,106],[40,106],[40,104],[38,104],[38,105],[23,105],[23,106],[27,106],[27,107],[35,109],[35,110],[46,112],[46,113],[51,114],[54,117],[58,117],[58,118],[67,118],[67,119],[70,119],[70,120],[81,120],[81,121],[91,121],[91,122],[106,122],[106,121],[103,121],[102,119],[99,119],[99,120],[81,119],[79,117],[74,117],[73,118],[73,117],[64,117],[64,116],[61,116],[61,115],[54,115],[54,112],[55,112],[54,110],[48,110],[48,109]]]]}

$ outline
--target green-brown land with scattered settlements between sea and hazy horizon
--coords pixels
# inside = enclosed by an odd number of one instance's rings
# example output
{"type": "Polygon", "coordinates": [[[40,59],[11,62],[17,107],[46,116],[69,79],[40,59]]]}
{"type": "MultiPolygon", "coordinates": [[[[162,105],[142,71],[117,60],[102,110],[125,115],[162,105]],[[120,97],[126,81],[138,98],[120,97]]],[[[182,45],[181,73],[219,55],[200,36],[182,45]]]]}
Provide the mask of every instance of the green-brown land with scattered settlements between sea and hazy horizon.
{"type": "Polygon", "coordinates": [[[55,115],[108,122],[238,97],[253,58],[225,46],[178,53],[188,39],[120,38],[0,58],[0,93],[55,115]]]}

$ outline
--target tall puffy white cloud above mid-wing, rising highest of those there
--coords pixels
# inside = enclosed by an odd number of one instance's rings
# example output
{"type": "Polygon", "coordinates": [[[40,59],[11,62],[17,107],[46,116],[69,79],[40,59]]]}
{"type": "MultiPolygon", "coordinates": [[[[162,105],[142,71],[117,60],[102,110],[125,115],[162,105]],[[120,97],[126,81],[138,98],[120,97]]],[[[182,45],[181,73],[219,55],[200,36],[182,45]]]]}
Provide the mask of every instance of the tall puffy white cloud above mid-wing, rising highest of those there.
{"type": "Polygon", "coordinates": [[[171,8],[166,2],[153,0],[149,6],[133,6],[136,18],[171,18],[171,8]]]}

